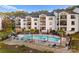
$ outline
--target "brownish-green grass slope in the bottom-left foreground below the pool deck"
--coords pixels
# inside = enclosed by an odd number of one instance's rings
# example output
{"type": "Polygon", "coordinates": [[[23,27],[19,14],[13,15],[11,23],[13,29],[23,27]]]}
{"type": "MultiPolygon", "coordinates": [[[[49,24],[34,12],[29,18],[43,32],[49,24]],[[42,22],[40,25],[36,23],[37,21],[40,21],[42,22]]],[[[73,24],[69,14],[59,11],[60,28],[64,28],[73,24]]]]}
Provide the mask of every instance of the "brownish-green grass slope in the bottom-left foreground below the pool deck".
{"type": "Polygon", "coordinates": [[[51,51],[39,51],[24,45],[7,45],[0,43],[0,53],[30,53],[30,51],[32,51],[31,53],[53,53],[51,51]],[[16,46],[18,47],[16,48],[16,46]]]}

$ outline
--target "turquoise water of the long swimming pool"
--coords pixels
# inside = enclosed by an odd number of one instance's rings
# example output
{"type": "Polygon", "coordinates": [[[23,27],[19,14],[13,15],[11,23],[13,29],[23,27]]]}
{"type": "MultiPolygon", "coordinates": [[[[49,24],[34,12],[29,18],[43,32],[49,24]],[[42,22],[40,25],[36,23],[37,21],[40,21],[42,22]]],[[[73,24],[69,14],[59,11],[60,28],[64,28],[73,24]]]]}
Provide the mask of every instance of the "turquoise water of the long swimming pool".
{"type": "Polygon", "coordinates": [[[60,40],[60,37],[53,37],[53,36],[48,36],[48,35],[24,35],[22,37],[23,40],[28,40],[28,39],[34,39],[34,40],[48,40],[52,42],[58,42],[60,40]]]}

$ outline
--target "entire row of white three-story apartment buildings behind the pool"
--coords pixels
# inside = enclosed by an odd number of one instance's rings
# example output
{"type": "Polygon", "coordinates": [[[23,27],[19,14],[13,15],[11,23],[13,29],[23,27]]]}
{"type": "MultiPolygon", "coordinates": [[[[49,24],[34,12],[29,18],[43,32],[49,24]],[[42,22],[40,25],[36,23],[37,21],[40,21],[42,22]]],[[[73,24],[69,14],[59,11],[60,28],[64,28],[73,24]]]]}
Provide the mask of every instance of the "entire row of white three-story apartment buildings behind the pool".
{"type": "Polygon", "coordinates": [[[54,12],[54,15],[40,14],[38,17],[17,17],[15,23],[16,28],[26,30],[38,29],[41,32],[49,32],[51,29],[64,30],[66,34],[79,32],[79,14],[66,10],[54,12]]]}

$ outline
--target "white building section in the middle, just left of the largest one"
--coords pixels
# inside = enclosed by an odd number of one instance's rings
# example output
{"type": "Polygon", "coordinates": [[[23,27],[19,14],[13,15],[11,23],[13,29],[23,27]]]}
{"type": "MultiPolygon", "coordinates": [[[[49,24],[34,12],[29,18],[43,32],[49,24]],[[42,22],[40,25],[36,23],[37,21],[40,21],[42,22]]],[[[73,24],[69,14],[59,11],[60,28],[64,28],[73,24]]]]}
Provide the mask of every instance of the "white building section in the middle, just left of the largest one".
{"type": "Polygon", "coordinates": [[[39,15],[39,27],[42,32],[47,32],[52,30],[57,30],[57,20],[56,17],[50,16],[50,15],[45,15],[41,14],[39,15]]]}

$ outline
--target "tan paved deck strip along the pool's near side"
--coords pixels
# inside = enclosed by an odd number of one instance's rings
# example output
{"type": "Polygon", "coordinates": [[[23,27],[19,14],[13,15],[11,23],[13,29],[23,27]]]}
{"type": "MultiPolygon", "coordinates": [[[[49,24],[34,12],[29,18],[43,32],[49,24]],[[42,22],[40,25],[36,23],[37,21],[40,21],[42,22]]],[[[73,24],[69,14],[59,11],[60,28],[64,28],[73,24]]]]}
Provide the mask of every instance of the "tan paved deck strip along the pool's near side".
{"type": "Polygon", "coordinates": [[[25,46],[28,46],[30,48],[37,49],[37,50],[40,50],[40,51],[51,51],[51,52],[54,52],[54,53],[72,53],[71,50],[68,50],[68,47],[53,48],[53,47],[37,45],[37,44],[34,44],[34,43],[29,43],[29,42],[9,41],[9,40],[5,40],[1,43],[5,43],[5,44],[8,44],[8,45],[25,45],[25,46]]]}

